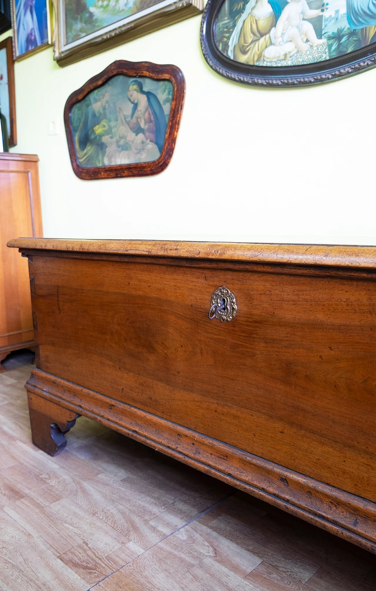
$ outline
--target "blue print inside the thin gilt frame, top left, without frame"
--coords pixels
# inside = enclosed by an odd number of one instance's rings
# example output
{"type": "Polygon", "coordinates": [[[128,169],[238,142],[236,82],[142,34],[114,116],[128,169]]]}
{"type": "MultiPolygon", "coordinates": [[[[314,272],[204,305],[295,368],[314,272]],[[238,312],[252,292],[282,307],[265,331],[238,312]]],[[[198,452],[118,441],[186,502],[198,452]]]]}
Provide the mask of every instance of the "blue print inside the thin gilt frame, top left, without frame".
{"type": "Polygon", "coordinates": [[[17,55],[47,43],[46,0],[15,0],[17,55]]]}

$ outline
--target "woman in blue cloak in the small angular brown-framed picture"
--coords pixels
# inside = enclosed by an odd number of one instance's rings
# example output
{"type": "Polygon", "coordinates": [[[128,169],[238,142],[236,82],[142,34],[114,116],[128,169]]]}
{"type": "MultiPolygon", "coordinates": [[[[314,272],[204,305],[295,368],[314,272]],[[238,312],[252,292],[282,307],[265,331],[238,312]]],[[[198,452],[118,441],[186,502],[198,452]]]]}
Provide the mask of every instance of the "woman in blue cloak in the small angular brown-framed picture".
{"type": "Polygon", "coordinates": [[[163,107],[153,92],[145,92],[140,80],[128,86],[128,99],[133,103],[129,128],[156,144],[161,152],[166,137],[167,122],[163,107]]]}

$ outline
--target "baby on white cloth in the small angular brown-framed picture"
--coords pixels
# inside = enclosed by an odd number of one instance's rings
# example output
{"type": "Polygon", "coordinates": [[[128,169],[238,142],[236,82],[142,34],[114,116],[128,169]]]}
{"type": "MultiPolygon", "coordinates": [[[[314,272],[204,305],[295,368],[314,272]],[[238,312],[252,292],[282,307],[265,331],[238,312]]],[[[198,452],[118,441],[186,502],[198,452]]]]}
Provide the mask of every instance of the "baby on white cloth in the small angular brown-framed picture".
{"type": "MultiPolygon", "coordinates": [[[[117,105],[116,108],[118,109],[116,137],[115,139],[103,138],[107,144],[104,157],[105,165],[114,166],[116,164],[134,164],[157,160],[160,157],[160,151],[157,145],[150,141],[150,139],[147,139],[142,132],[136,135],[129,128],[127,121],[125,121],[121,107],[117,105]]],[[[155,131],[153,135],[150,127],[147,134],[149,137],[155,138],[155,131]]]]}

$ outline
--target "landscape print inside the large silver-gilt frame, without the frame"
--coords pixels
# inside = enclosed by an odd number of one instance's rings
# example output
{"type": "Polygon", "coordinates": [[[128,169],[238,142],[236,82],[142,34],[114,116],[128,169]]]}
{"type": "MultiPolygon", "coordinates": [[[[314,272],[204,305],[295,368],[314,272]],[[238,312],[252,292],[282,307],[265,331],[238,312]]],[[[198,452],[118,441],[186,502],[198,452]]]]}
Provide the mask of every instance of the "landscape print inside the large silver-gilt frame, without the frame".
{"type": "Polygon", "coordinates": [[[131,17],[161,0],[66,0],[66,43],[131,17]]]}

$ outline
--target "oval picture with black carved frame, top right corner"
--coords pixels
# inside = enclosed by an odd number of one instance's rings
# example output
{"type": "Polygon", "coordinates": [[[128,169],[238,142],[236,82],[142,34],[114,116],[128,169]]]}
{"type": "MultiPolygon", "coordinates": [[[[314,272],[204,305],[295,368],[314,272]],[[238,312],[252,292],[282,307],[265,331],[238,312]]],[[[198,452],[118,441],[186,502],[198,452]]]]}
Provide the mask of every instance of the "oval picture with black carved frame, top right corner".
{"type": "Polygon", "coordinates": [[[376,65],[374,0],[209,0],[201,27],[216,72],[256,86],[302,86],[376,65]]]}

